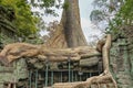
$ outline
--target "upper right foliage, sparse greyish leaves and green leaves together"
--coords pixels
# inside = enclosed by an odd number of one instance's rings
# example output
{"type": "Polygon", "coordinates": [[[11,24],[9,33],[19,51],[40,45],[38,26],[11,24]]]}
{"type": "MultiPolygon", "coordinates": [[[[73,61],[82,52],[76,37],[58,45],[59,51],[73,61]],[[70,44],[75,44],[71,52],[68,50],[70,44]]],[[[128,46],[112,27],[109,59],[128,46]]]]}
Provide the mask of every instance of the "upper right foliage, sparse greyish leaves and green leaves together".
{"type": "MultiPolygon", "coordinates": [[[[133,0],[94,0],[96,10],[91,12],[91,21],[105,21],[105,32],[119,33],[122,25],[133,25],[133,0]]],[[[99,24],[98,24],[99,26],[99,24]]]]}

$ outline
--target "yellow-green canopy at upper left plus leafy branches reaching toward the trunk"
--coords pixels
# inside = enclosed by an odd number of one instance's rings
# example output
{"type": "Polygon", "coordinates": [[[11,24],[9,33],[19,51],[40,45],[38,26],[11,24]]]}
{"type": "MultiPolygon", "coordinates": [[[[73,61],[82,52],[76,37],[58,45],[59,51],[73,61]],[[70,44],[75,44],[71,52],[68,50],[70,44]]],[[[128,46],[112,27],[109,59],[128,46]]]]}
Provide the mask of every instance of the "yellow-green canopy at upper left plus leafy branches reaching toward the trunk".
{"type": "Polygon", "coordinates": [[[30,34],[35,34],[42,25],[40,16],[33,15],[31,7],[39,7],[43,9],[44,13],[54,14],[54,10],[51,7],[57,7],[61,2],[58,0],[0,0],[0,4],[6,8],[10,8],[14,12],[14,20],[12,24],[16,26],[16,31],[20,36],[29,36],[30,34]]]}

